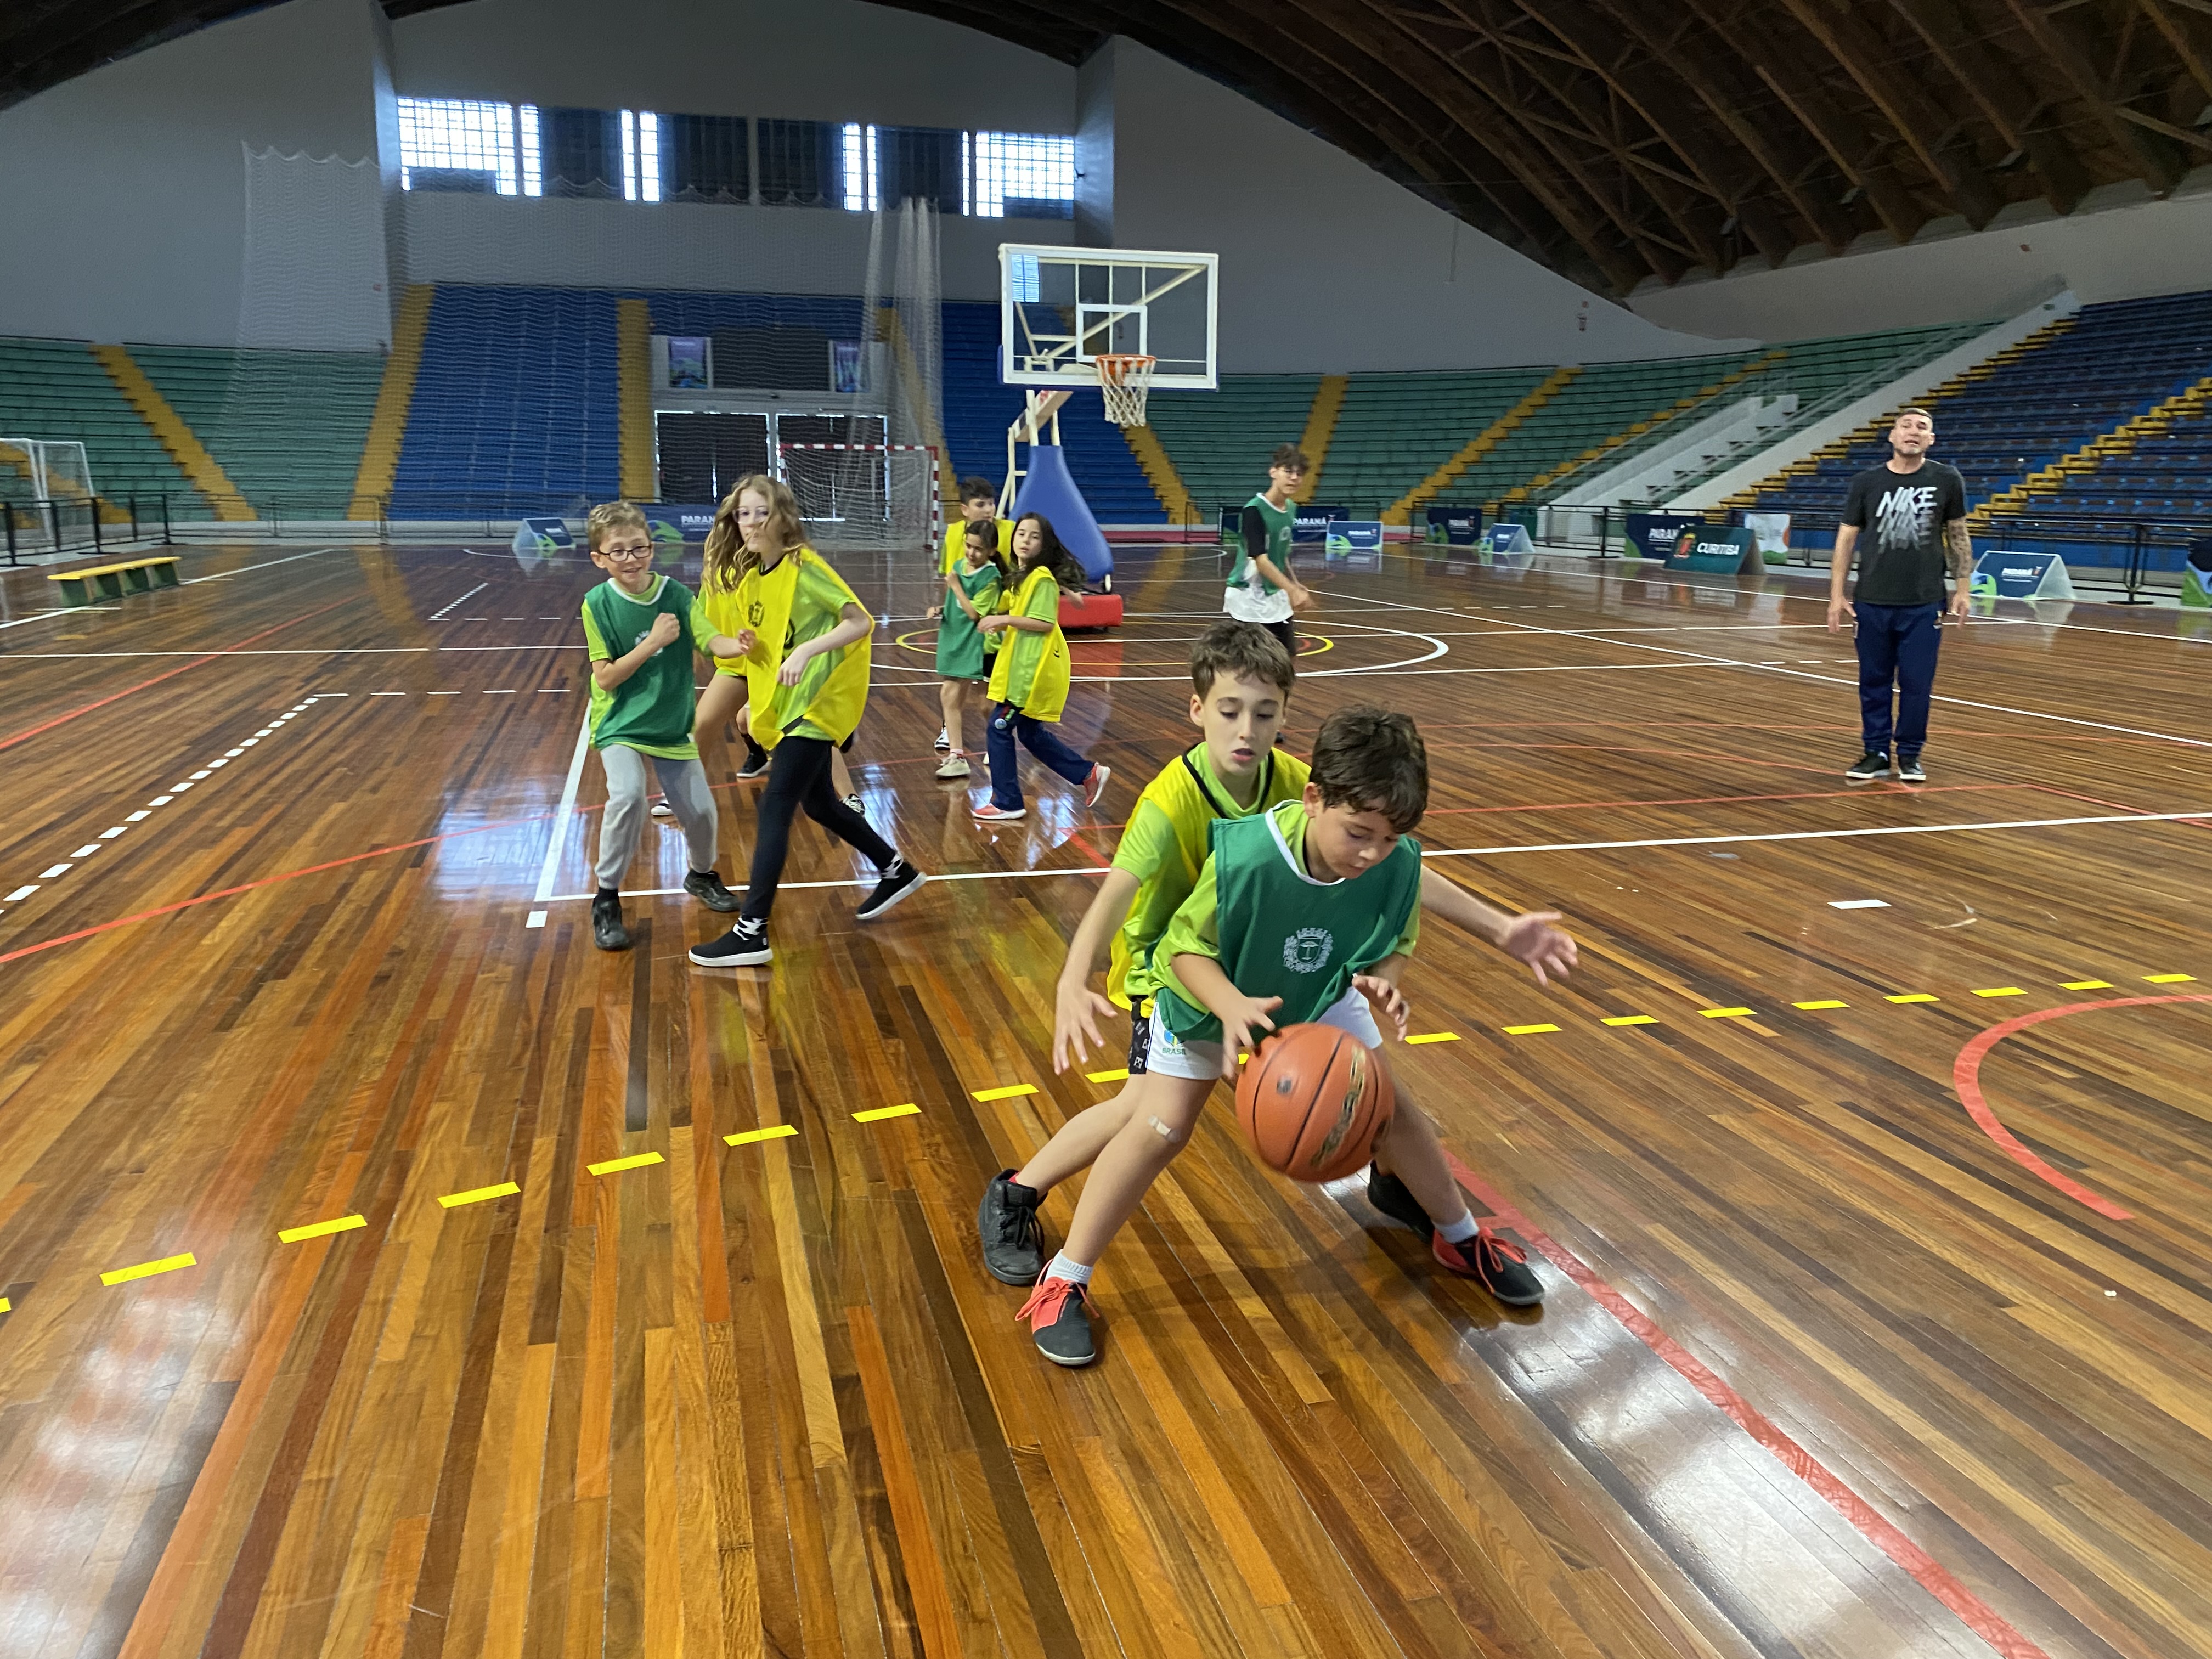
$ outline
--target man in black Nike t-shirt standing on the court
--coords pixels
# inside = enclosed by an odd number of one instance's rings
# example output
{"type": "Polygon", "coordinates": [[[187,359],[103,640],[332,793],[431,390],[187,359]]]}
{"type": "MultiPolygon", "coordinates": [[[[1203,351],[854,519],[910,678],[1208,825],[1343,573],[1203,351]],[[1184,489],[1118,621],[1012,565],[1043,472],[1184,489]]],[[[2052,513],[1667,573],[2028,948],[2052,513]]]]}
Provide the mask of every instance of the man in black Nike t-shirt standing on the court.
{"type": "Polygon", "coordinates": [[[1851,480],[1836,526],[1836,560],[1827,577],[1827,630],[1856,617],[1858,721],[1865,754],[1851,761],[1851,783],[1889,776],[1896,741],[1898,776],[1927,783],[1920,748],[1929,737],[1936,690],[1936,646],[1944,615],[1944,566],[1951,573],[1951,622],[1966,622],[1973,542],[1966,535],[1966,480],[1929,460],[1936,420],[1905,409],[1889,429],[1889,460],[1851,480]],[[1860,540],[1865,538],[1865,540],[1860,540]],[[1843,597],[1858,551],[1858,588],[1843,597]],[[1889,695],[1896,690],[1896,719],[1889,695]]]}

